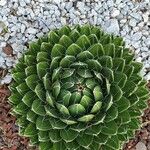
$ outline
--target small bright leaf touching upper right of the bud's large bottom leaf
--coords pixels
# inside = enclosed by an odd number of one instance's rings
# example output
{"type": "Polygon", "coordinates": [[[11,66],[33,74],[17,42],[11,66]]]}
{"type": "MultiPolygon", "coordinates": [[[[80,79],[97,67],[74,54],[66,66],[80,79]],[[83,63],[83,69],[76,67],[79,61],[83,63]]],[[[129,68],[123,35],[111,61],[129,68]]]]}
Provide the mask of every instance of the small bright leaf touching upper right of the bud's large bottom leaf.
{"type": "Polygon", "coordinates": [[[89,106],[92,104],[92,99],[86,95],[83,95],[81,98],[80,104],[84,108],[89,108],[89,106]]]}

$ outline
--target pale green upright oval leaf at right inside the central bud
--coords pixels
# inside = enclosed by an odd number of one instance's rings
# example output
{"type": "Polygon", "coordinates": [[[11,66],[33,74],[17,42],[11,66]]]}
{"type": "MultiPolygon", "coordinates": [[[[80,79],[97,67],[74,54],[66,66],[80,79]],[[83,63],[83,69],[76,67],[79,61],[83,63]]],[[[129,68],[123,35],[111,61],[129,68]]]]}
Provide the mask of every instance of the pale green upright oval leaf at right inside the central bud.
{"type": "Polygon", "coordinates": [[[94,88],[93,95],[96,102],[102,100],[103,94],[100,86],[96,86],[94,88]]]}

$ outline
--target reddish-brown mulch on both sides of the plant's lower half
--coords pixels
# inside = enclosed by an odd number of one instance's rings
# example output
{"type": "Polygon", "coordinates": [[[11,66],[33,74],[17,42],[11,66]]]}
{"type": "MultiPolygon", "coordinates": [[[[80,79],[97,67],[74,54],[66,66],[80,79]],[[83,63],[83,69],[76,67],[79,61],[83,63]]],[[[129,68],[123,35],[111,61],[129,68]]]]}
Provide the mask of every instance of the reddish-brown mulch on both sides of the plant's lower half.
{"type": "MultiPolygon", "coordinates": [[[[150,88],[150,82],[149,82],[150,88]]],[[[15,125],[15,117],[10,115],[11,106],[7,102],[10,95],[7,85],[0,86],[0,150],[35,150],[28,146],[28,139],[18,135],[18,127],[15,125]]],[[[141,141],[150,150],[150,100],[149,108],[142,116],[142,128],[136,132],[135,138],[125,144],[124,150],[136,150],[136,144],[141,141]]]]}

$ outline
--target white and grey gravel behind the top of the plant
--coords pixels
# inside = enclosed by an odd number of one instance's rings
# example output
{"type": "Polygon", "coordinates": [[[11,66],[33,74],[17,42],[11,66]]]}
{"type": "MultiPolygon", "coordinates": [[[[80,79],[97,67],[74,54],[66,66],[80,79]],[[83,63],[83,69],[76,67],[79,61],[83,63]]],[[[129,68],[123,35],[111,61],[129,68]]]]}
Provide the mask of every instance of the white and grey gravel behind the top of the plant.
{"type": "Polygon", "coordinates": [[[26,51],[28,42],[49,30],[69,24],[90,23],[121,35],[144,63],[142,74],[150,80],[150,0],[0,0],[0,68],[11,81],[10,70],[26,51]],[[13,54],[3,49],[7,45],[13,54]]]}

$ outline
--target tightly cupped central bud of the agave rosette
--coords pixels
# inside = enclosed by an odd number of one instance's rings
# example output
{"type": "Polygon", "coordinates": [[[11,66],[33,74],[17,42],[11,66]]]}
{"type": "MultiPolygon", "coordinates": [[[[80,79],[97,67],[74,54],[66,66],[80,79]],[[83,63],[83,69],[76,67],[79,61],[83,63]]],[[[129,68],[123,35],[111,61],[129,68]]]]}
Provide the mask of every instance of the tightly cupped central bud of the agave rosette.
{"type": "Polygon", "coordinates": [[[60,67],[53,70],[52,82],[51,96],[62,121],[89,122],[101,110],[103,92],[97,72],[60,67]]]}

